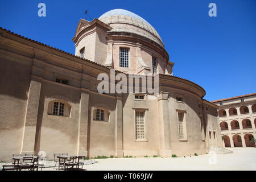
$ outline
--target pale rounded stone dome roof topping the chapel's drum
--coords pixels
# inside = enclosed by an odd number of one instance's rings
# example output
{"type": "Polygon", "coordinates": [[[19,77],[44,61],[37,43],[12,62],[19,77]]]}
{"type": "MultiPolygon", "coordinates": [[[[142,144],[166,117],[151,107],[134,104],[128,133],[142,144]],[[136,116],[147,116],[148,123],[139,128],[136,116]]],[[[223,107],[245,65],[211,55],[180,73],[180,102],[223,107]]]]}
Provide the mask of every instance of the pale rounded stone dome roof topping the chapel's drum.
{"type": "Polygon", "coordinates": [[[141,16],[134,14],[130,11],[123,9],[110,10],[101,15],[98,19],[113,27],[110,32],[129,32],[133,34],[138,34],[148,39],[151,39],[154,42],[160,44],[160,46],[164,47],[162,39],[160,38],[155,28],[152,27],[151,24],[148,23],[146,20],[141,18],[141,16]],[[131,26],[139,27],[141,30],[126,27],[123,24],[130,24],[131,26]]]}

